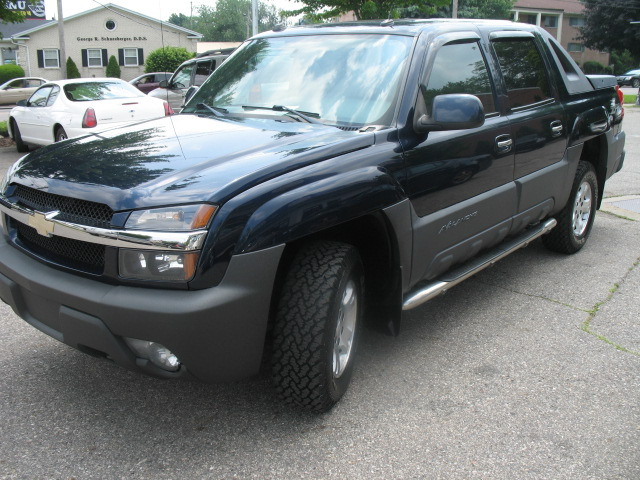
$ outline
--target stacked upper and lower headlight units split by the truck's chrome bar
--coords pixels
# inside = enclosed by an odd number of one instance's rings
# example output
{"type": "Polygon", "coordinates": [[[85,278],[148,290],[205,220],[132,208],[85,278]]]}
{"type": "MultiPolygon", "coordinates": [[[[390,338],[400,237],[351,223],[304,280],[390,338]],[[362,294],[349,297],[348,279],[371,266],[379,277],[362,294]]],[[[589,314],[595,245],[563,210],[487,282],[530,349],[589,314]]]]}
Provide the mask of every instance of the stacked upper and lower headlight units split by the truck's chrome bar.
{"type": "MultiPolygon", "coordinates": [[[[202,230],[215,211],[216,207],[208,204],[138,210],[129,215],[125,229],[160,232],[202,230]]],[[[199,255],[199,251],[121,248],[118,252],[118,274],[131,280],[188,282],[195,275],[199,255]]]]}

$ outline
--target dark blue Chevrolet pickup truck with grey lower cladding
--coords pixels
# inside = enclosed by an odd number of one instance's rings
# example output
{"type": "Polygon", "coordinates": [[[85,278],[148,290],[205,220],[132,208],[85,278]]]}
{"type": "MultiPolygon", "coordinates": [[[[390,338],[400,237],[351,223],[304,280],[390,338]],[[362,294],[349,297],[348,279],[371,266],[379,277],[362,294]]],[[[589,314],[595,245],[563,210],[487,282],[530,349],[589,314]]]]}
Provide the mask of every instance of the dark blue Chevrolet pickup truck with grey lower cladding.
{"type": "Polygon", "coordinates": [[[0,296],[88,354],[315,411],[362,326],[537,237],[577,252],[624,160],[614,77],[499,21],[288,28],[180,115],[36,150],[1,187],[0,296]]]}

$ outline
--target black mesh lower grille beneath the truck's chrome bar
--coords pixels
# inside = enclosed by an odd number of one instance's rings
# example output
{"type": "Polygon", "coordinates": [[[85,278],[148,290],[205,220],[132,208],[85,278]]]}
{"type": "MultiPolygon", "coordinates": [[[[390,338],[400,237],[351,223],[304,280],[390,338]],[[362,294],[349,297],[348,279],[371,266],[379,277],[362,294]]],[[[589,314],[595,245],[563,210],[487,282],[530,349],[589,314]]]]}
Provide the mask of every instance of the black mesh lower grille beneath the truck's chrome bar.
{"type": "Polygon", "coordinates": [[[45,237],[35,228],[11,221],[24,248],[41,258],[66,267],[101,275],[104,272],[104,245],[64,237],[45,237]]]}

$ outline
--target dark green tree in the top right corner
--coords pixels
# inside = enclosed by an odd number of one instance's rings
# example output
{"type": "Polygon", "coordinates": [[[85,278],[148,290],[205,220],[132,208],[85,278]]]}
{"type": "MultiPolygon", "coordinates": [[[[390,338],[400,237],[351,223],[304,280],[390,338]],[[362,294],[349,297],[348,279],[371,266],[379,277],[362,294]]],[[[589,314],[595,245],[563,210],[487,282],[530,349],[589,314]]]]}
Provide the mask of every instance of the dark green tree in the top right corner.
{"type": "Polygon", "coordinates": [[[629,50],[640,56],[640,20],[638,0],[583,0],[585,25],[580,29],[584,44],[596,50],[629,50]]]}

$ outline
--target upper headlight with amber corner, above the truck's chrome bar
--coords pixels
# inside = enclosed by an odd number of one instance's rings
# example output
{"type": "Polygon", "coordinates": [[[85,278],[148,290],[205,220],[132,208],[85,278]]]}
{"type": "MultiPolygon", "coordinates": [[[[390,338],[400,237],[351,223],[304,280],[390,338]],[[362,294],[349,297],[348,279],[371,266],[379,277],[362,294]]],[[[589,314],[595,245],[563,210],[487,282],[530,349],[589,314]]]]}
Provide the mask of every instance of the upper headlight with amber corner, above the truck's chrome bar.
{"type": "Polygon", "coordinates": [[[216,211],[214,205],[179,205],[177,207],[137,210],[129,215],[125,229],[188,231],[205,228],[216,211]]]}

